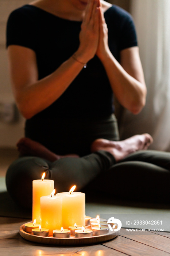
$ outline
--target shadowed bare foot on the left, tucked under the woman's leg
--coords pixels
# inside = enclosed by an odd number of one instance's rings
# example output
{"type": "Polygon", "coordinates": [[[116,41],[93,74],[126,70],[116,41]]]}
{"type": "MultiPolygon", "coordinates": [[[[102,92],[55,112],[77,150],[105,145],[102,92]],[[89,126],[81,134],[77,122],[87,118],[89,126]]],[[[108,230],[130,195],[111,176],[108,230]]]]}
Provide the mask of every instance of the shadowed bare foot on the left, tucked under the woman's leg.
{"type": "Polygon", "coordinates": [[[75,157],[75,158],[79,157],[76,154],[56,155],[53,152],[51,152],[48,148],[40,144],[39,142],[36,142],[29,138],[20,139],[19,142],[16,144],[16,146],[18,147],[18,151],[21,156],[32,155],[35,157],[41,157],[41,158],[47,159],[51,162],[54,162],[60,158],[65,158],[65,157],[75,157]]]}

